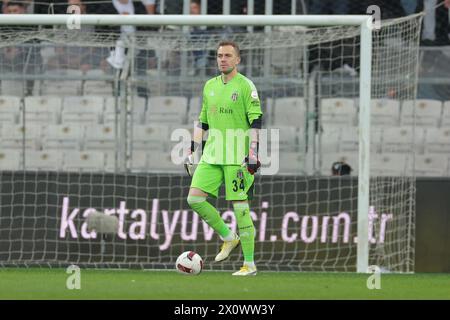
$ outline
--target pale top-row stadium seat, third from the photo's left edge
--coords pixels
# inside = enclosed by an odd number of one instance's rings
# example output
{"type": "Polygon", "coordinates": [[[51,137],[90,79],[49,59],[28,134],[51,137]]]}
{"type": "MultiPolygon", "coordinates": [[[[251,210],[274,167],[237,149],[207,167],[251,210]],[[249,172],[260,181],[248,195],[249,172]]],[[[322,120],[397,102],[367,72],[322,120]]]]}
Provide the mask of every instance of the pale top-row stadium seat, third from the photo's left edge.
{"type": "Polygon", "coordinates": [[[103,104],[103,97],[66,97],[63,99],[61,121],[62,123],[101,123],[103,104]]]}

